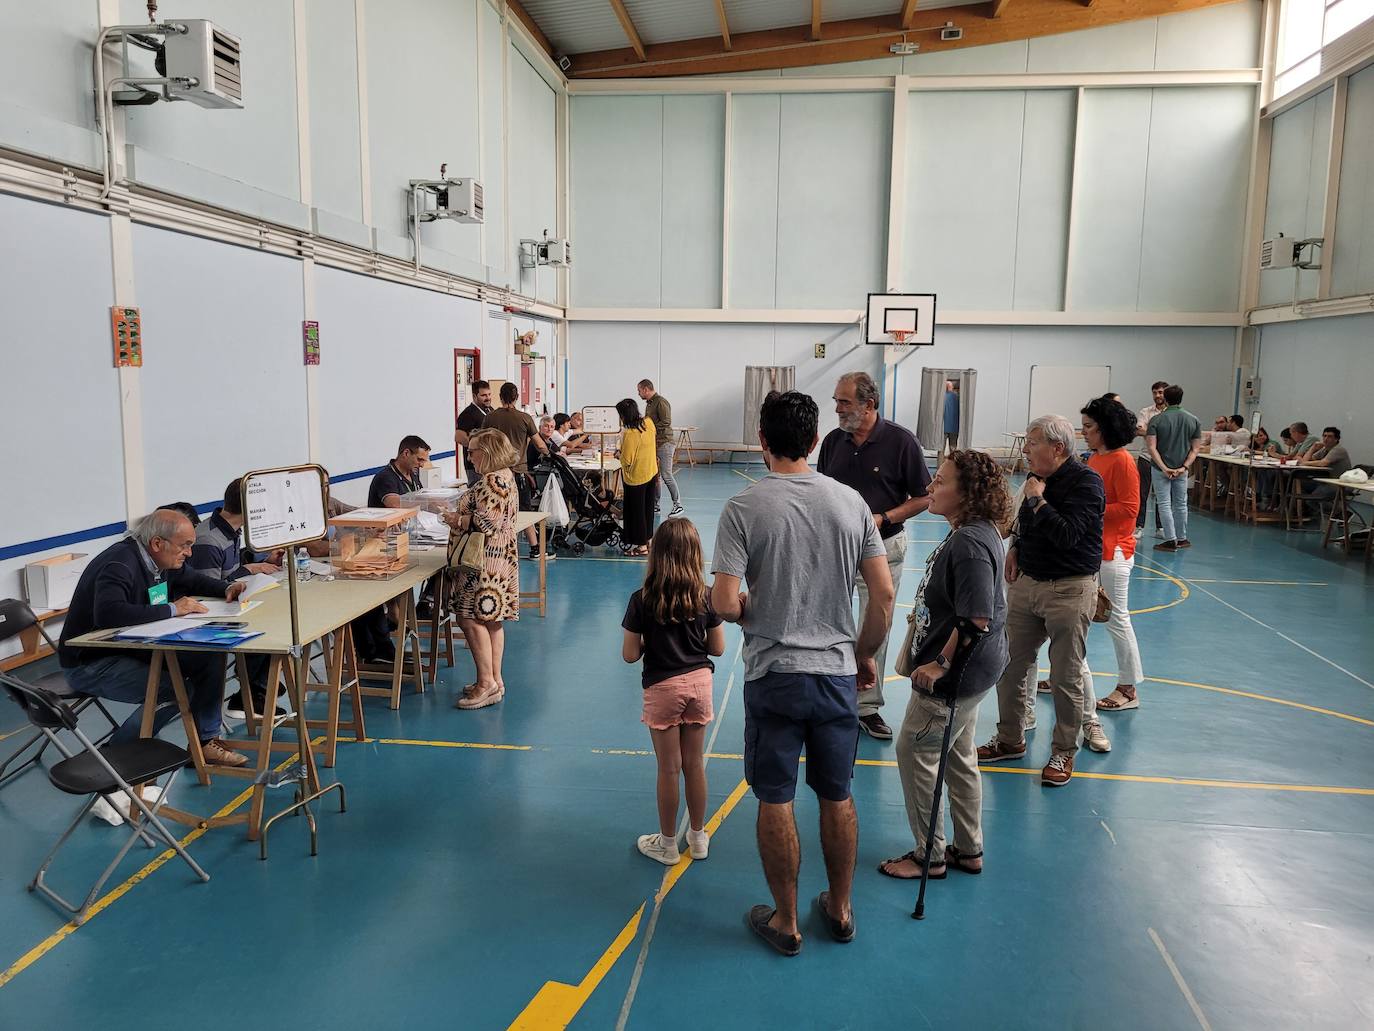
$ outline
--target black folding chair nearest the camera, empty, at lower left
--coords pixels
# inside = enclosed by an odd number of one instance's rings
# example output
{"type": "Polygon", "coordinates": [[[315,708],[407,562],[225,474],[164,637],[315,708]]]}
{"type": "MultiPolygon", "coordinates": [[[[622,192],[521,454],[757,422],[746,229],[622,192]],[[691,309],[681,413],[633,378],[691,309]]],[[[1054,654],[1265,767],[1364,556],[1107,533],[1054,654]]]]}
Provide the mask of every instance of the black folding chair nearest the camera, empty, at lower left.
{"type": "Polygon", "coordinates": [[[58,839],[58,844],[52,847],[52,851],[43,861],[43,866],[38,867],[38,872],[33,876],[33,881],[29,884],[29,891],[43,892],[48,899],[73,914],[77,924],[81,924],[85,921],[87,913],[92,903],[95,903],[96,896],[99,896],[100,888],[104,887],[104,883],[124,861],[124,856],[129,854],[135,841],[143,841],[148,848],[157,848],[159,844],[170,847],[185,861],[185,865],[191,867],[196,877],[202,881],[210,880],[210,874],[201,869],[195,859],[181,847],[181,843],[172,836],[172,832],[158,818],[158,810],[172,792],[177,773],[180,773],[181,767],[191,757],[190,752],[180,745],[162,741],[161,738],[140,738],[113,745],[96,745],[77,724],[77,713],[73,707],[65,704],[52,691],[26,685],[10,674],[0,674],[0,686],[19,704],[19,708],[23,709],[29,722],[37,727],[38,733],[66,756],[60,763],[48,770],[48,779],[52,782],[52,786],[67,795],[89,796],[85,804],[81,806],[81,811],[77,812],[76,819],[71,821],[71,825],[58,839]],[[81,751],[69,751],[58,737],[59,730],[66,730],[76,737],[81,744],[81,751]],[[168,777],[168,782],[164,785],[158,800],[151,806],[132,786],[135,784],[147,784],[166,774],[170,774],[170,777],[168,777]],[[67,843],[71,833],[85,819],[85,815],[95,806],[96,800],[110,799],[120,793],[129,799],[129,826],[133,830],[118,855],[114,856],[114,862],[104,867],[104,873],[92,885],[85,900],[80,906],[73,906],[49,888],[44,877],[52,861],[62,850],[62,845],[67,843]],[[147,823],[137,821],[133,812],[135,808],[143,814],[147,823]]]}

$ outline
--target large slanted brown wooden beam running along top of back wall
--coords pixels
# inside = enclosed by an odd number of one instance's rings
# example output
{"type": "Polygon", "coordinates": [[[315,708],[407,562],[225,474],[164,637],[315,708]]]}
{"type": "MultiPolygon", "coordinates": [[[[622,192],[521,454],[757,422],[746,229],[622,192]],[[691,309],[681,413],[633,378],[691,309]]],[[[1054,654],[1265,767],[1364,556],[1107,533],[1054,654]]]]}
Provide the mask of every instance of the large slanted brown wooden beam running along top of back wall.
{"type": "MultiPolygon", "coordinates": [[[[911,25],[903,23],[903,11],[872,18],[852,18],[824,23],[824,38],[811,38],[811,23],[785,29],[767,29],[731,34],[731,49],[721,47],[720,36],[654,44],[647,60],[642,51],[620,48],[570,55],[573,78],[654,78],[661,76],[708,76],[757,71],[764,69],[833,65],[849,60],[872,60],[890,56],[889,47],[903,38],[921,45],[922,54],[962,47],[982,47],[1011,40],[1055,36],[1079,29],[1117,25],[1142,18],[1157,18],[1205,7],[1220,7],[1237,0],[1094,0],[1092,10],[1083,0],[1003,0],[1000,15],[984,16],[987,7],[916,8],[911,25]],[[962,40],[945,41],[938,29],[952,21],[963,29],[962,40]]],[[[620,0],[611,0],[622,8],[620,0]]],[[[628,15],[622,21],[628,23],[628,15]]],[[[629,32],[627,30],[627,36],[629,32]]],[[[638,37],[638,33],[636,33],[638,37]]],[[[643,44],[640,44],[643,45],[643,44]]]]}

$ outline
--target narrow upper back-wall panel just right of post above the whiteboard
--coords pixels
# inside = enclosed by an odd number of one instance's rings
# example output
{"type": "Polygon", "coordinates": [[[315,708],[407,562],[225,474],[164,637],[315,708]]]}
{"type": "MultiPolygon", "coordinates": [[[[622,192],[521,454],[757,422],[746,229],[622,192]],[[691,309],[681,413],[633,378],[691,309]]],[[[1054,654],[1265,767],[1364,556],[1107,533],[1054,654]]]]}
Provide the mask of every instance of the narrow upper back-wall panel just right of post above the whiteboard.
{"type": "Polygon", "coordinates": [[[1149,89],[1084,95],[1069,307],[1134,311],[1150,140],[1149,89]]]}

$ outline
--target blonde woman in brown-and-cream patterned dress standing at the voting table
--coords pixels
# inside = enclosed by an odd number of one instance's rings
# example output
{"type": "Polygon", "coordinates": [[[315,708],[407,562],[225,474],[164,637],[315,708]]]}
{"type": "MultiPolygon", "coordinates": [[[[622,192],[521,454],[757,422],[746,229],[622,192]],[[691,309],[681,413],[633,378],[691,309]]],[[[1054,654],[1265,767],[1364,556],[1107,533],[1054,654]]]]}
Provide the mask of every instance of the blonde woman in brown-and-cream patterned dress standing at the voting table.
{"type": "Polygon", "coordinates": [[[500,430],[478,430],[467,441],[469,458],[481,478],[447,517],[455,531],[486,535],[486,562],[481,572],[455,569],[453,614],[463,628],[477,667],[477,680],[458,700],[460,709],[495,705],[506,697],[502,654],[504,620],[519,619],[519,555],[515,551],[515,514],[519,500],[511,466],[519,455],[500,430]]]}

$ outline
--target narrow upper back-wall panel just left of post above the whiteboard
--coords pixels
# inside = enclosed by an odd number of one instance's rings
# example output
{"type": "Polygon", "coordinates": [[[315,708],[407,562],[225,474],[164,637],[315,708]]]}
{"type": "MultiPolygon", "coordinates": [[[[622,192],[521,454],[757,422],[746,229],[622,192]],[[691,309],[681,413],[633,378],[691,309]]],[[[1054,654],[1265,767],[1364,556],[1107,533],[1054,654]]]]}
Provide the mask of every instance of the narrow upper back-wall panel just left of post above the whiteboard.
{"type": "Polygon", "coordinates": [[[1072,89],[1026,92],[1014,308],[1063,308],[1076,106],[1072,89]]]}

